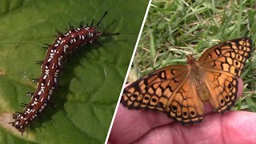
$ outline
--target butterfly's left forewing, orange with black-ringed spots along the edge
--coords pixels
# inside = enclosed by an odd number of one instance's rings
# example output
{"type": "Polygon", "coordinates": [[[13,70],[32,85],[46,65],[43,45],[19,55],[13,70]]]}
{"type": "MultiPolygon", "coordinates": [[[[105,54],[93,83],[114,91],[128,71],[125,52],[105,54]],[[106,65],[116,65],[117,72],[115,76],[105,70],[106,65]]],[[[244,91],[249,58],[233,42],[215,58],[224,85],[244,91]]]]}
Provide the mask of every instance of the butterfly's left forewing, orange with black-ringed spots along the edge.
{"type": "Polygon", "coordinates": [[[186,77],[186,66],[166,66],[127,86],[121,102],[130,109],[165,111],[174,90],[186,77]]]}

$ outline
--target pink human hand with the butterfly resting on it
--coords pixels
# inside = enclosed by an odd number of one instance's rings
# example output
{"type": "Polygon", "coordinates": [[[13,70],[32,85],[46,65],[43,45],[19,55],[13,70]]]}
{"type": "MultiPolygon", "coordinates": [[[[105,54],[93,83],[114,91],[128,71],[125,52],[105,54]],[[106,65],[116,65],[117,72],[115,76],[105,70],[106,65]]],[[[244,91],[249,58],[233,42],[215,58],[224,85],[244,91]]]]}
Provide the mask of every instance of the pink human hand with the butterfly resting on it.
{"type": "MultiPolygon", "coordinates": [[[[238,79],[238,97],[243,82],[238,79]]],[[[182,126],[166,114],[146,110],[128,110],[118,106],[109,144],[126,143],[255,143],[256,113],[227,111],[212,112],[206,104],[206,115],[200,124],[182,126]]]]}

